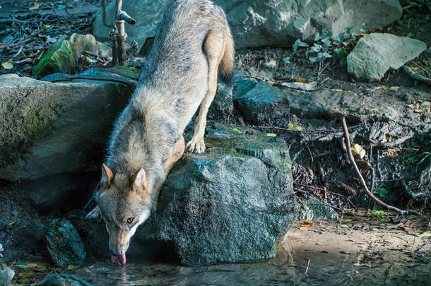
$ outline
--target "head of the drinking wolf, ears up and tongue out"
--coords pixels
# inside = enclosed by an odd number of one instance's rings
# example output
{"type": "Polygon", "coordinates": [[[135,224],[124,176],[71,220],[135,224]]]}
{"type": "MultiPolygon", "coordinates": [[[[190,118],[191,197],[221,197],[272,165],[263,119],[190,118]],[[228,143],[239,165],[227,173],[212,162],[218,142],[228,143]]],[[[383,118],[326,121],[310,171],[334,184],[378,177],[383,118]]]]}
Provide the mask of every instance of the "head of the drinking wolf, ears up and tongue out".
{"type": "Polygon", "coordinates": [[[138,225],[150,216],[150,191],[143,168],[136,174],[114,174],[105,164],[97,199],[87,218],[104,220],[110,234],[112,261],[126,263],[126,250],[138,225]]]}

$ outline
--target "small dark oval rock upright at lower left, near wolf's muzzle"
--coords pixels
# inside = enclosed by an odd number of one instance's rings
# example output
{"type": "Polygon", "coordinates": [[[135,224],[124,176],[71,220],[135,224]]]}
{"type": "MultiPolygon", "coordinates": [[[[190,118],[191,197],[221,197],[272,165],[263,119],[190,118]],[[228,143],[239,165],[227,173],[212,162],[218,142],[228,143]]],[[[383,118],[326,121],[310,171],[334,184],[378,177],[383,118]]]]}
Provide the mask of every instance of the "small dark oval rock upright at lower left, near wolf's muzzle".
{"type": "Polygon", "coordinates": [[[56,266],[80,266],[84,263],[84,244],[69,220],[57,218],[50,221],[45,239],[49,256],[56,266]]]}

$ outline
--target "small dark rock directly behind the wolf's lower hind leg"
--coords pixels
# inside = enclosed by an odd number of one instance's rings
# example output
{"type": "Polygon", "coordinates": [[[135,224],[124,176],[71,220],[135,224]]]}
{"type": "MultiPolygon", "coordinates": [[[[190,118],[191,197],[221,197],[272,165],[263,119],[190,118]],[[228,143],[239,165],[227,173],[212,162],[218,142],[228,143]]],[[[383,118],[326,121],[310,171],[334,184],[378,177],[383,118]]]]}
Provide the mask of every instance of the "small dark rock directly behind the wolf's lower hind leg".
{"type": "Polygon", "coordinates": [[[232,90],[231,83],[217,84],[217,93],[208,110],[208,119],[229,121],[233,112],[232,90]]]}

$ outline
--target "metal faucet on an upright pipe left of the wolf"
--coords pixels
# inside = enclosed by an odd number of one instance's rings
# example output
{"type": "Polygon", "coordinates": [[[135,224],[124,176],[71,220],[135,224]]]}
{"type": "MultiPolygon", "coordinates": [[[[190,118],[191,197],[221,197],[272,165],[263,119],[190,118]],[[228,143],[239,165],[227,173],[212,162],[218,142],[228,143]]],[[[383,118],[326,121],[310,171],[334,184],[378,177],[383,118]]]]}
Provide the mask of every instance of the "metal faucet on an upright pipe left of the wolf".
{"type": "Polygon", "coordinates": [[[110,37],[112,37],[112,66],[124,66],[126,59],[126,39],[127,34],[124,30],[124,22],[130,25],[135,25],[136,20],[122,11],[123,1],[115,1],[115,24],[108,25],[106,23],[106,0],[102,0],[103,7],[103,25],[112,28],[110,37]]]}

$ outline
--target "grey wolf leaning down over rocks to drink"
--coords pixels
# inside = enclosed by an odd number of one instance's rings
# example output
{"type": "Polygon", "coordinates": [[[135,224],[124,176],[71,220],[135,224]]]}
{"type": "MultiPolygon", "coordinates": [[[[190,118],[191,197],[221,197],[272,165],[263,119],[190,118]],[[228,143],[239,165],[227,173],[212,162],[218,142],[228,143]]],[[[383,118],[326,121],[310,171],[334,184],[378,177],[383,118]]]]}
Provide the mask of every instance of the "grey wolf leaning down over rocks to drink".
{"type": "Polygon", "coordinates": [[[184,148],[205,151],[206,114],[218,74],[229,76],[233,62],[222,8],[210,0],[177,0],[167,9],[134,95],[114,124],[97,206],[87,215],[105,221],[112,261],[126,262],[131,237],[155,210],[184,148]],[[184,146],[184,128],[199,105],[194,135],[184,146]]]}

